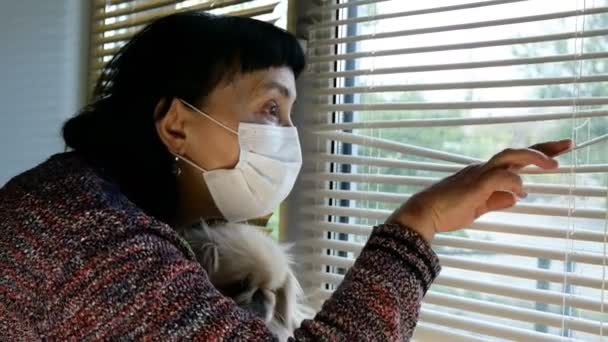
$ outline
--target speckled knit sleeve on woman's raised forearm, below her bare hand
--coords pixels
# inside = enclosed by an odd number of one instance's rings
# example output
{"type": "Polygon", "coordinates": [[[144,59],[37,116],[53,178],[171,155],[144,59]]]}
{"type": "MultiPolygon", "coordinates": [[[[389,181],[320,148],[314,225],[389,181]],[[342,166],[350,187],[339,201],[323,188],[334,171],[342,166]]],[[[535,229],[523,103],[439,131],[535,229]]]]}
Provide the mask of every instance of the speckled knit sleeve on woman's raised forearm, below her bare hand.
{"type": "Polygon", "coordinates": [[[296,330],[296,339],[409,340],[422,297],[439,271],[437,256],[418,233],[380,225],[315,319],[296,330]]]}

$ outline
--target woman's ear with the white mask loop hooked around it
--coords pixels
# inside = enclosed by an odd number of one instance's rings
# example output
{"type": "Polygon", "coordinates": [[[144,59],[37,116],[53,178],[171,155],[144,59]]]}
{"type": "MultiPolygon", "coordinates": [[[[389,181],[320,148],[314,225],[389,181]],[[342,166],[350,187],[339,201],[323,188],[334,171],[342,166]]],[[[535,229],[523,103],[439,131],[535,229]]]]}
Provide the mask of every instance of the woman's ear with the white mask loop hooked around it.
{"type": "Polygon", "coordinates": [[[158,101],[154,110],[155,126],[158,137],[167,147],[167,150],[178,155],[185,152],[187,110],[177,98],[172,98],[165,113],[161,111],[166,107],[166,98],[158,101]]]}

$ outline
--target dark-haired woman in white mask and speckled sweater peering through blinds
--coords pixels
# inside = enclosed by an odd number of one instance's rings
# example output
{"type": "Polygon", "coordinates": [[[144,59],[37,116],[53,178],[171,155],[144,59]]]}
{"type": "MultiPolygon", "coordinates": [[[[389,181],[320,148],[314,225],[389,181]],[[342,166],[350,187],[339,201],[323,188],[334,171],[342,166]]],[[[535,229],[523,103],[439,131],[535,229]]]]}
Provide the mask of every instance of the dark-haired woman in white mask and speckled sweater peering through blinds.
{"type": "MultiPolygon", "coordinates": [[[[250,19],[184,13],[137,34],[65,124],[73,151],[0,190],[1,339],[273,339],[174,228],[259,217],[285,198],[303,68],[293,36],[250,19]]],[[[440,269],[435,232],[514,205],[517,168],[554,168],[570,144],[505,150],[414,195],[294,339],[409,339],[440,269]]]]}

